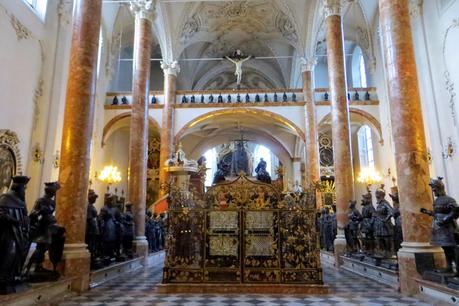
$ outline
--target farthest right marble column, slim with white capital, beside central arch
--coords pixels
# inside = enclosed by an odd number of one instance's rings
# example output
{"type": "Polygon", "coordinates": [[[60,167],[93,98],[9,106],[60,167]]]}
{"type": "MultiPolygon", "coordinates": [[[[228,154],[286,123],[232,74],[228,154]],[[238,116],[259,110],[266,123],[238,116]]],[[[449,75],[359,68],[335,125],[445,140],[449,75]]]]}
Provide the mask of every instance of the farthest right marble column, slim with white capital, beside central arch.
{"type": "MultiPolygon", "coordinates": [[[[314,99],[314,66],[317,64],[315,57],[304,59],[301,65],[303,74],[303,94],[305,101],[305,146],[306,146],[306,182],[305,187],[320,181],[319,142],[317,131],[316,105],[314,99]]],[[[320,194],[316,197],[316,207],[320,208],[322,201],[320,194]]]]}

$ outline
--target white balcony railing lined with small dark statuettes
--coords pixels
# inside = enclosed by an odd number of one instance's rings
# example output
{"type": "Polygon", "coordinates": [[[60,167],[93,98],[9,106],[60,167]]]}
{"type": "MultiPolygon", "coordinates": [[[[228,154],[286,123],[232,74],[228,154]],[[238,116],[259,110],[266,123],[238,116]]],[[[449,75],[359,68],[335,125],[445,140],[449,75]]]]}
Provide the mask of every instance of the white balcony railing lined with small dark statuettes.
{"type": "MultiPolygon", "coordinates": [[[[328,88],[317,88],[314,93],[316,104],[328,105],[330,92],[328,88]]],[[[377,103],[376,89],[350,88],[348,99],[352,104],[377,103]]],[[[149,103],[155,107],[164,104],[162,91],[152,91],[149,94],[149,103]]],[[[274,89],[274,90],[222,90],[222,91],[177,91],[176,107],[216,107],[226,104],[262,103],[266,105],[301,105],[304,104],[304,95],[301,89],[274,89]]],[[[106,105],[122,107],[132,104],[130,92],[109,92],[106,96],[106,105]]]]}

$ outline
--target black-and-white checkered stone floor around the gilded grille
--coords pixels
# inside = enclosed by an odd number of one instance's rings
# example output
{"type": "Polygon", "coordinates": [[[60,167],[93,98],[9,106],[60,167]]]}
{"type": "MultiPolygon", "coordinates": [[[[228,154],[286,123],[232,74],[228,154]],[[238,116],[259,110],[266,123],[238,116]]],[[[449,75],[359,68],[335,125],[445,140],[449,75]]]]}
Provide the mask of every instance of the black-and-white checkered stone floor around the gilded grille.
{"type": "MultiPolygon", "coordinates": [[[[155,294],[153,288],[161,281],[161,268],[150,268],[125,274],[83,295],[71,296],[53,303],[62,306],[200,306],[200,305],[432,305],[416,298],[403,297],[392,288],[334,268],[324,269],[324,280],[331,286],[325,296],[287,295],[217,295],[217,294],[155,294]]],[[[438,305],[438,304],[436,304],[438,305]]]]}

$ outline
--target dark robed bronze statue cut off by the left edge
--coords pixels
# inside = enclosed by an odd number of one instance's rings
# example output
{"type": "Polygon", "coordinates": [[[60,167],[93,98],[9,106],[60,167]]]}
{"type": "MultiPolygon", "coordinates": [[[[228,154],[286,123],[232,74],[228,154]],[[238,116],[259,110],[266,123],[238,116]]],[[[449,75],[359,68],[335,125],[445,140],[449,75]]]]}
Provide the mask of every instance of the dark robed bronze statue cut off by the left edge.
{"type": "Polygon", "coordinates": [[[29,252],[29,217],[25,204],[27,176],[13,177],[10,191],[0,195],[0,294],[15,292],[29,252]]]}

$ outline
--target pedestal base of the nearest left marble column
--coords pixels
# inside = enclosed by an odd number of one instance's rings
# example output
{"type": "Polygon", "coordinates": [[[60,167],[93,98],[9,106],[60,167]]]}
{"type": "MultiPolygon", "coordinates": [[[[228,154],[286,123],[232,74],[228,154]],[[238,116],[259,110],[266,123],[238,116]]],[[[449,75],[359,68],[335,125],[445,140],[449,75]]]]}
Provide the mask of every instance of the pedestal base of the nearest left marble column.
{"type": "Polygon", "coordinates": [[[85,243],[64,245],[59,272],[65,277],[72,278],[72,291],[84,292],[89,290],[90,266],[91,254],[85,243]]]}

